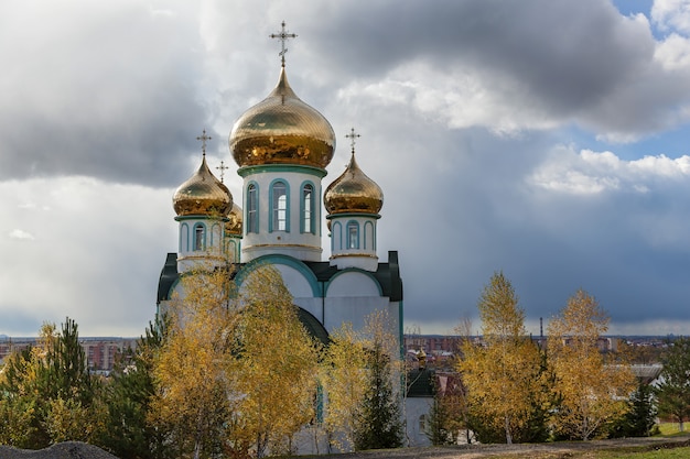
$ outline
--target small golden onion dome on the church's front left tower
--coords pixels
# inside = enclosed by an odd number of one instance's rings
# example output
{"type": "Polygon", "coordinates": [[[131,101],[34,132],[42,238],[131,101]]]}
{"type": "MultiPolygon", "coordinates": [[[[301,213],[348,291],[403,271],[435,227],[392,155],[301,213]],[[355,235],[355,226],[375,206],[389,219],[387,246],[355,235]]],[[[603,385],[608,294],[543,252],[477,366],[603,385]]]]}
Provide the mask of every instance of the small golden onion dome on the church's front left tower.
{"type": "Polygon", "coordinates": [[[173,207],[180,217],[226,216],[233,208],[233,195],[208,170],[206,155],[198,171],[175,192],[173,207]]]}

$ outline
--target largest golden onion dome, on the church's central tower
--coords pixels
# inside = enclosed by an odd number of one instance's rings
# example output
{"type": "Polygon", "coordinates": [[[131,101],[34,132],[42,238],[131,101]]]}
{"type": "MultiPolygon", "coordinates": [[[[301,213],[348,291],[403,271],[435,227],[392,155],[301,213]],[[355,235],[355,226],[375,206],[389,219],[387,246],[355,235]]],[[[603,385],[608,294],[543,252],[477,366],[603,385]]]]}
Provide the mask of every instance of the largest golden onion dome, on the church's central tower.
{"type": "Polygon", "coordinates": [[[229,144],[240,167],[300,164],[325,168],[333,159],[335,134],[323,114],[297,97],[283,67],[273,91],[235,122],[229,144]]]}

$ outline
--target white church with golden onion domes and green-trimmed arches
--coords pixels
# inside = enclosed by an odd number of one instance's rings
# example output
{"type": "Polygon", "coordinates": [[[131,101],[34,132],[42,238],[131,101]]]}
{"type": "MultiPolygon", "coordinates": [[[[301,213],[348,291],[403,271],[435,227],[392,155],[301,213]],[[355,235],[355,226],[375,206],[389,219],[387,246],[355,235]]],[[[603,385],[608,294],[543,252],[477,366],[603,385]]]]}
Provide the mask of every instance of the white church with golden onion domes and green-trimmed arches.
{"type": "Polygon", "coordinates": [[[357,165],[354,129],[345,171],[323,189],[335,153],[331,123],[303,102],[288,83],[283,29],[282,65],[276,88],[237,119],[229,150],[242,178],[242,196],[231,196],[206,163],[202,141],[198,170],[173,196],[179,225],[177,251],[163,265],[157,309],[171,300],[179,280],[195,264],[236,269],[235,281],[271,264],[299,307],[300,320],[322,341],[343,323],[362,329],[367,316],[386,312],[391,332],[402,342],[402,281],[398,253],[377,255],[380,187],[357,165]],[[241,203],[241,205],[238,205],[241,203]],[[322,260],[323,220],[331,255],[322,260]]]}

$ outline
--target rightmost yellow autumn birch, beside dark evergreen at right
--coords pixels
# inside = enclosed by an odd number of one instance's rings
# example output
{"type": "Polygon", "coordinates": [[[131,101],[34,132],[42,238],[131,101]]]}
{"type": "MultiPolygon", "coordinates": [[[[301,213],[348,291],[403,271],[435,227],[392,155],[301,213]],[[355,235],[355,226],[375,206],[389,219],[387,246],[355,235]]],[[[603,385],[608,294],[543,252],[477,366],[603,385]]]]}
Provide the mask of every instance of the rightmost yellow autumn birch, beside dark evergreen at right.
{"type": "Polygon", "coordinates": [[[549,361],[560,400],[553,411],[557,435],[582,440],[606,436],[629,409],[635,390],[629,365],[606,360],[597,347],[607,329],[608,316],[583,289],[549,324],[549,361]]]}

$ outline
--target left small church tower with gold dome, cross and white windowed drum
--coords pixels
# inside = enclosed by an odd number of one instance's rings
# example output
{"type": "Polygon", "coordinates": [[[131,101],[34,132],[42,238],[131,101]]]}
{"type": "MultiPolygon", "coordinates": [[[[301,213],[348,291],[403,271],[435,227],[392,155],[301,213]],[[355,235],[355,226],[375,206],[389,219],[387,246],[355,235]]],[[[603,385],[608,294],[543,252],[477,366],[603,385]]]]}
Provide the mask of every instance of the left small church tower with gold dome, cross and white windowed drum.
{"type": "MultiPolygon", "coordinates": [[[[202,164],[173,196],[175,220],[180,223],[177,272],[195,267],[215,267],[227,261],[226,236],[233,195],[206,164],[206,131],[202,141],[202,164]]],[[[241,223],[240,223],[241,225],[241,223]]]]}

